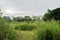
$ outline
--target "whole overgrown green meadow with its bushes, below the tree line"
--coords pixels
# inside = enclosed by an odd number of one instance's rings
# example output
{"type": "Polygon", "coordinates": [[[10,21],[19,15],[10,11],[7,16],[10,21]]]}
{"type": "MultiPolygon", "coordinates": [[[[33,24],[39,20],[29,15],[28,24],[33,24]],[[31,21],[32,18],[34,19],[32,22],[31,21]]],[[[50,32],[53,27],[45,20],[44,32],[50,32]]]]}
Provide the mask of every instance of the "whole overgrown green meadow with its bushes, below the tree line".
{"type": "Polygon", "coordinates": [[[0,40],[60,40],[60,21],[0,20],[0,40]]]}

